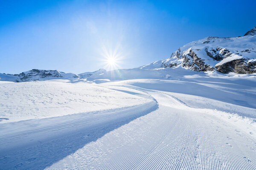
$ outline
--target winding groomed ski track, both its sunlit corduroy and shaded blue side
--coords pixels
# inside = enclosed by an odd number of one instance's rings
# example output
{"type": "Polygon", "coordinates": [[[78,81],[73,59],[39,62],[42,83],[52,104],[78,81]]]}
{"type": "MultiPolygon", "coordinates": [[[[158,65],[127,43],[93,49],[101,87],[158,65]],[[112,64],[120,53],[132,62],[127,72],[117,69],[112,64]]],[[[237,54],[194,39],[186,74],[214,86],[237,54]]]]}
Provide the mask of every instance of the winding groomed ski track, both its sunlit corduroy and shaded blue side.
{"type": "Polygon", "coordinates": [[[239,126],[163,91],[130,87],[141,94],[110,89],[153,101],[90,119],[48,118],[45,126],[0,135],[0,169],[256,169],[256,140],[239,126]]]}

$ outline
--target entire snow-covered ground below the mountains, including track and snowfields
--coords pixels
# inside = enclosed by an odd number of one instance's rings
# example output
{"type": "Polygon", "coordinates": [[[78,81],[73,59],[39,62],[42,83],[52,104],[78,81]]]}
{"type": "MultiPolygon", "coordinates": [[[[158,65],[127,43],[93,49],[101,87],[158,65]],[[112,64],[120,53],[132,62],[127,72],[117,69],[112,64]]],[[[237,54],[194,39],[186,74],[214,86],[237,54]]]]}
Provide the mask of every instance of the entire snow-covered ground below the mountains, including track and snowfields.
{"type": "Polygon", "coordinates": [[[15,122],[6,114],[10,120],[0,124],[0,169],[256,169],[256,75],[176,70],[166,76],[165,71],[148,71],[145,76],[151,79],[143,79],[140,72],[140,79],[114,73],[115,77],[97,75],[73,83],[0,84],[4,93],[21,99],[26,86],[37,89],[27,96],[28,103],[44,95],[38,89],[56,93],[52,104],[38,102],[26,109],[14,107],[20,101],[9,104],[21,117],[37,106],[38,117],[32,118],[40,119],[15,122]],[[114,81],[120,79],[127,80],[114,81]],[[55,103],[63,97],[61,90],[75,93],[64,96],[67,99],[84,99],[81,105],[70,104],[78,113],[92,99],[82,95],[86,93],[105,96],[114,108],[97,104],[93,112],[73,114],[73,109],[66,111],[55,103]],[[44,106],[50,105],[58,107],[53,115],[58,117],[45,112],[48,118],[41,119],[44,106]]]}

